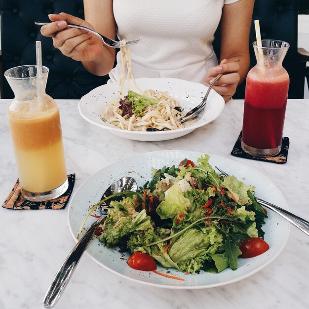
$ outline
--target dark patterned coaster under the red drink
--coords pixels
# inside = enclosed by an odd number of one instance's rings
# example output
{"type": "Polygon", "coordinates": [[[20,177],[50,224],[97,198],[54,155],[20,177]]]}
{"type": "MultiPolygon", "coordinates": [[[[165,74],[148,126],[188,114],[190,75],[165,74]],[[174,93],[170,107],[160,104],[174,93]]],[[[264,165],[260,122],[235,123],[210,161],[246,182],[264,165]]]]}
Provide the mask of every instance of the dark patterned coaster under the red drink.
{"type": "Polygon", "coordinates": [[[288,137],[283,137],[282,138],[282,147],[280,150],[280,153],[277,154],[276,156],[267,156],[264,158],[260,158],[257,156],[253,156],[250,154],[245,153],[242,148],[241,148],[241,133],[238,136],[238,139],[234,145],[234,148],[231,152],[232,155],[241,157],[241,158],[246,158],[246,159],[252,159],[252,160],[258,160],[258,161],[265,161],[265,162],[272,162],[272,163],[277,163],[277,164],[284,164],[287,162],[288,159],[288,151],[289,151],[289,145],[290,145],[290,140],[288,137]]]}

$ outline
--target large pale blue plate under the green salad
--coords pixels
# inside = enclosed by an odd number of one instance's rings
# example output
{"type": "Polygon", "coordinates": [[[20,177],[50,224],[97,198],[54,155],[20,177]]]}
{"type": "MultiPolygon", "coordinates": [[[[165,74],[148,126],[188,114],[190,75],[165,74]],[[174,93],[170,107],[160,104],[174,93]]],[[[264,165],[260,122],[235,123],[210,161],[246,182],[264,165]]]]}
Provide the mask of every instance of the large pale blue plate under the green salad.
{"type": "MultiPolygon", "coordinates": [[[[126,158],[115,164],[109,165],[98,171],[86,180],[73,195],[69,204],[68,224],[69,229],[77,241],[77,231],[91,207],[100,201],[106,188],[121,176],[130,176],[136,179],[138,187],[143,186],[151,180],[152,168],[177,165],[185,158],[196,162],[203,153],[192,151],[159,151],[139,154],[126,158]]],[[[210,155],[209,163],[215,165],[234,175],[246,185],[255,186],[257,196],[276,204],[284,209],[288,209],[287,203],[278,188],[263,174],[257,170],[228,158],[210,155]]],[[[99,213],[96,213],[99,215],[99,213]]],[[[96,218],[88,217],[85,228],[89,228],[96,218]]],[[[199,289],[211,288],[230,284],[244,279],[269,265],[283,250],[289,236],[290,224],[284,218],[274,212],[268,211],[268,219],[263,226],[265,240],[270,245],[270,249],[264,254],[250,258],[238,258],[237,270],[230,268],[219,273],[208,273],[200,271],[195,274],[186,274],[179,270],[166,269],[158,265],[159,272],[184,279],[180,281],[173,278],[164,277],[152,271],[134,270],[127,265],[129,253],[119,252],[117,248],[112,249],[94,238],[87,247],[87,254],[100,266],[126,279],[140,283],[165,287],[171,289],[199,289]]]]}

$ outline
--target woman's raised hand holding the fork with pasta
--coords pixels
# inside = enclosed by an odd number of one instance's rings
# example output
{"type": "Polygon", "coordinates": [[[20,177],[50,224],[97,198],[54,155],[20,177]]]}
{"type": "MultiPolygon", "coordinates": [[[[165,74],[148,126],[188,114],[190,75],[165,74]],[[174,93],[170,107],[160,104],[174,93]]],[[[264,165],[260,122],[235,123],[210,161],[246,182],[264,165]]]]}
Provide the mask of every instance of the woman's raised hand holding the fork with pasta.
{"type": "Polygon", "coordinates": [[[53,39],[54,47],[65,56],[77,61],[93,61],[98,59],[103,50],[103,41],[86,30],[67,27],[68,23],[94,29],[86,21],[66,13],[49,14],[52,23],[41,28],[44,37],[53,39]]]}

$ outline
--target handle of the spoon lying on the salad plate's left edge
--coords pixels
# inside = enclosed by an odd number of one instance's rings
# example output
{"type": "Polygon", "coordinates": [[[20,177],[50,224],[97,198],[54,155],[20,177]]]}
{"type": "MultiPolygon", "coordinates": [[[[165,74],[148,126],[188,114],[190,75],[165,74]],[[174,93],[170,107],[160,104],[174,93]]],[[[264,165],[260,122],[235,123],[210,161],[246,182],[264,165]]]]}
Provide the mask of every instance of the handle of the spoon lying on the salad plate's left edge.
{"type": "Polygon", "coordinates": [[[102,216],[95,221],[64,260],[45,295],[43,302],[45,308],[53,307],[60,298],[95,230],[101,223],[104,222],[105,219],[106,216],[102,216]]]}

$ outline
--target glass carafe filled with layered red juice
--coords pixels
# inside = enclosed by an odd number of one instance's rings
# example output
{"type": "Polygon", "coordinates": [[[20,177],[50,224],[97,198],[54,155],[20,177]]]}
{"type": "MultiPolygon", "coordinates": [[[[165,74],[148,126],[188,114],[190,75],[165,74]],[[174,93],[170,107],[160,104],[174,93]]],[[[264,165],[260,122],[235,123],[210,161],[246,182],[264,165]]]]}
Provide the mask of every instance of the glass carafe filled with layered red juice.
{"type": "Polygon", "coordinates": [[[246,78],[242,149],[258,157],[280,152],[289,76],[282,61],[290,44],[280,40],[253,43],[257,64],[246,78]]]}

